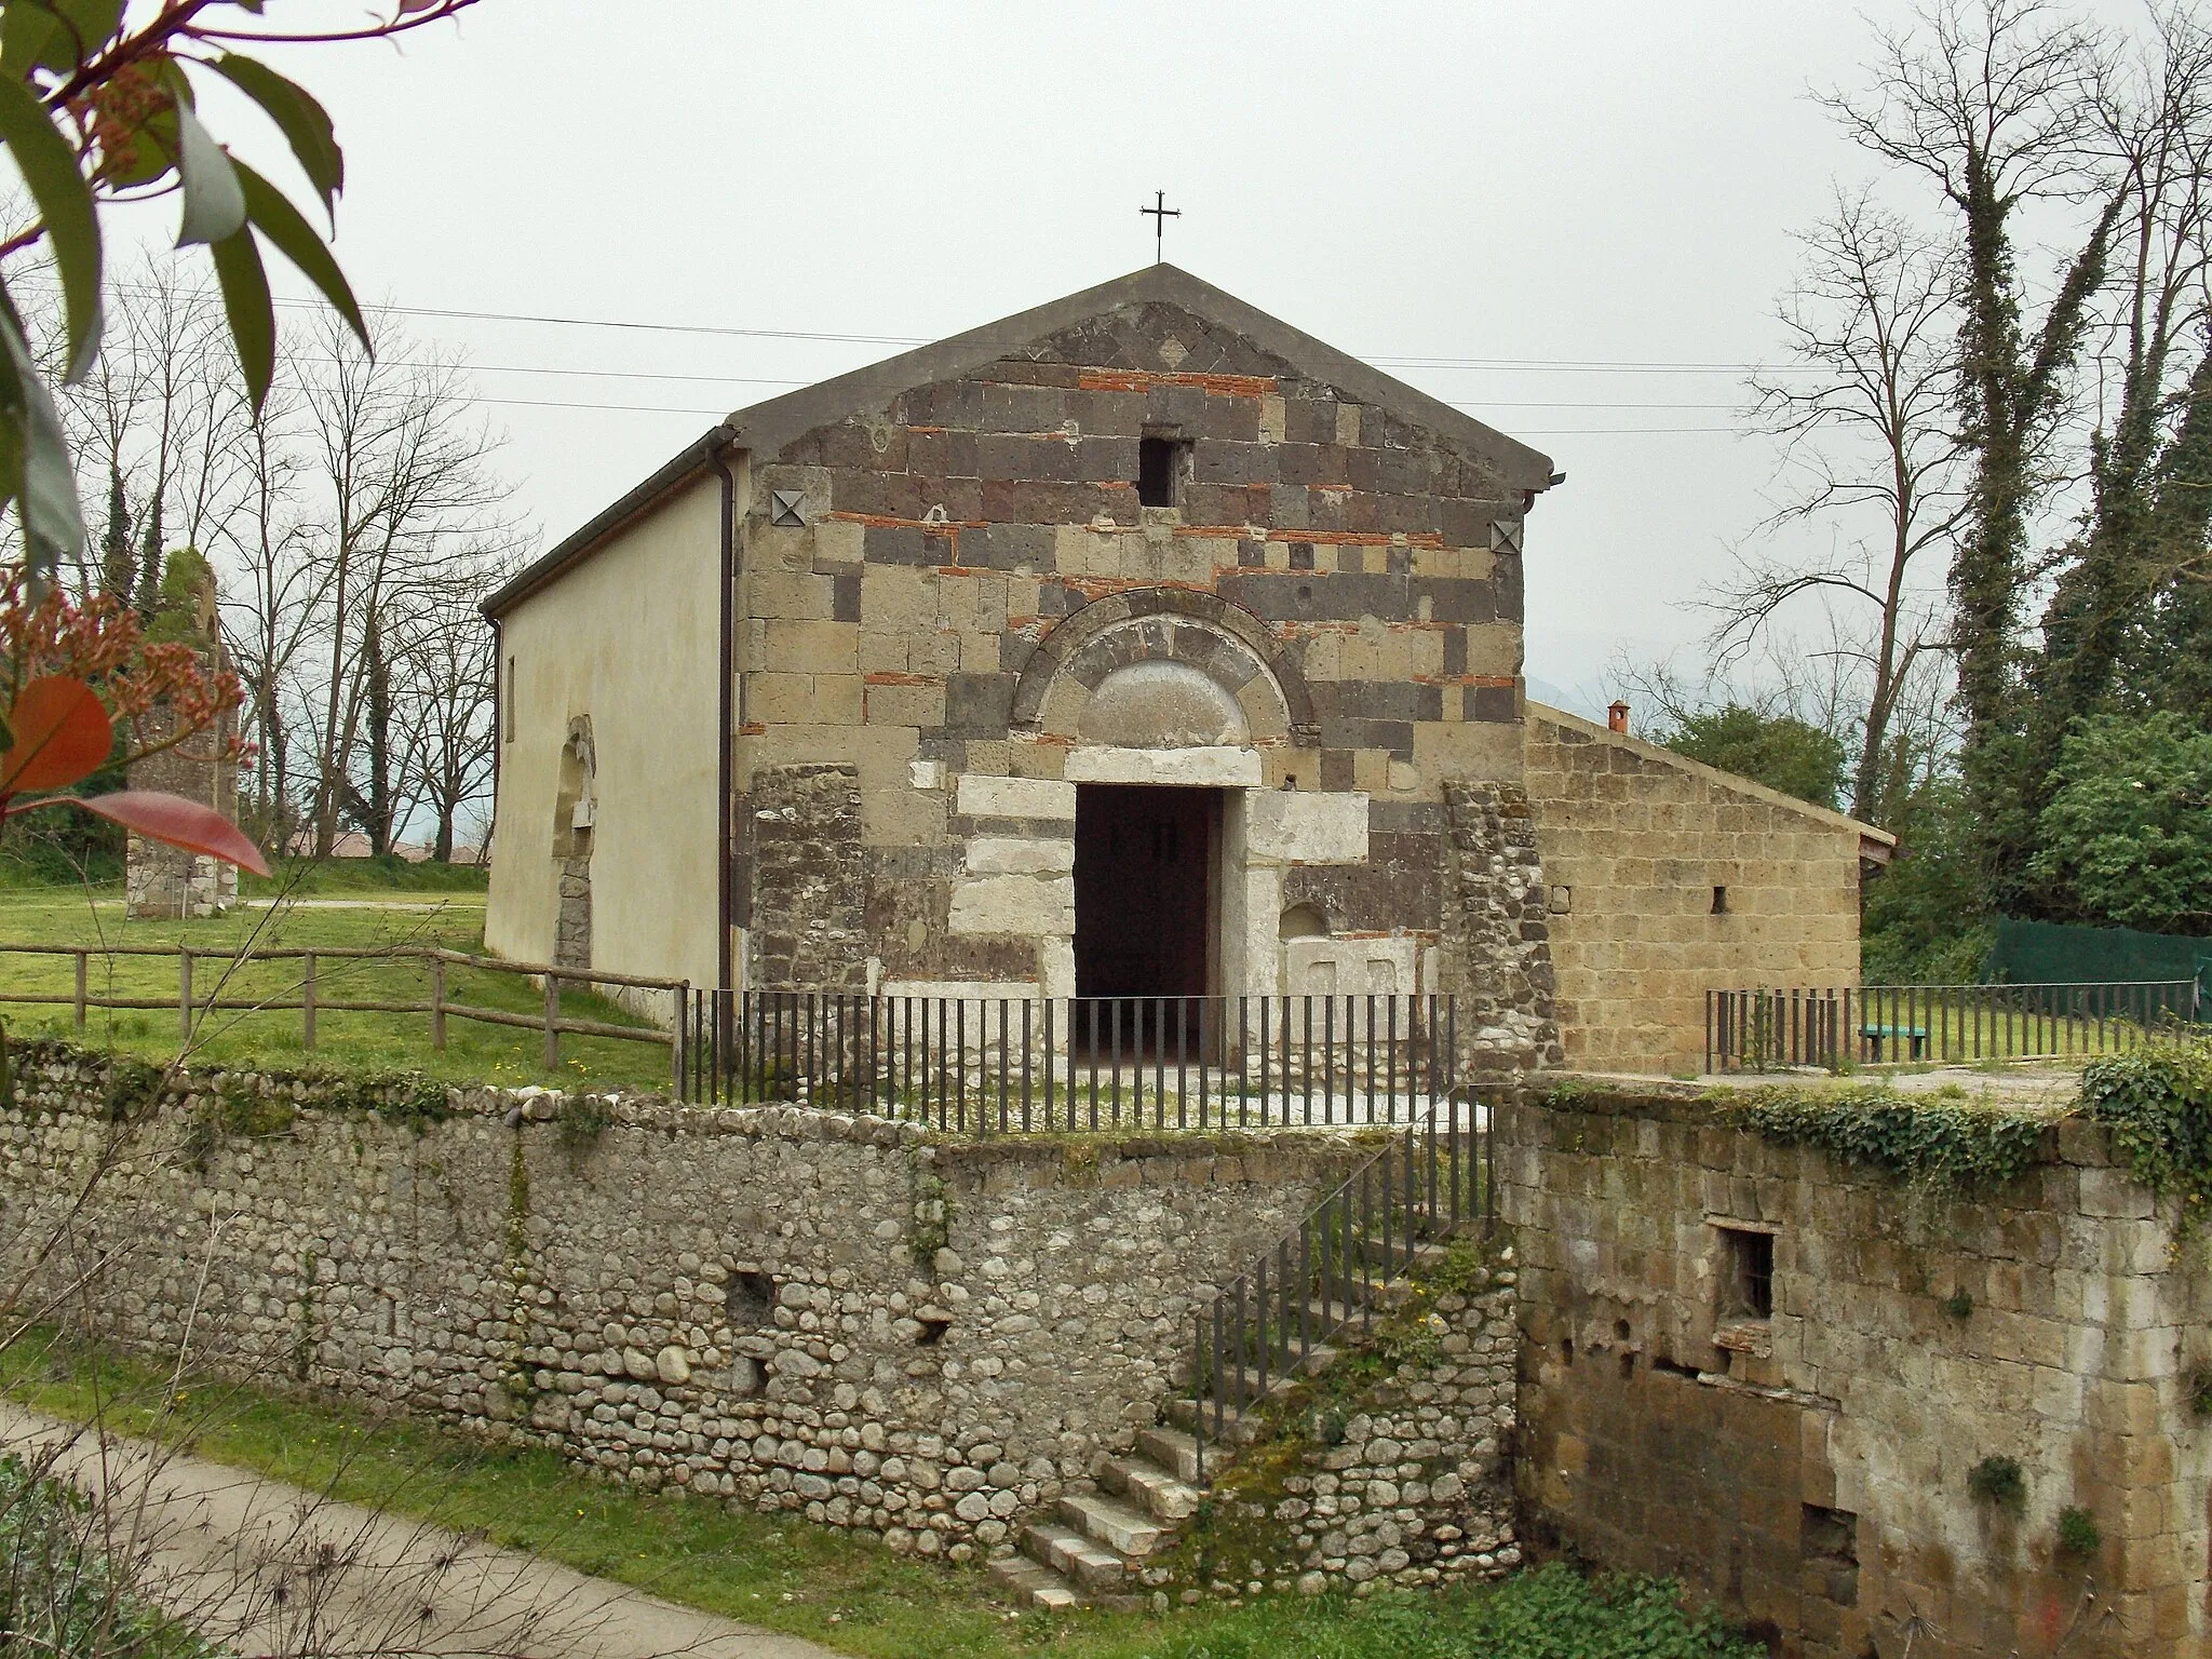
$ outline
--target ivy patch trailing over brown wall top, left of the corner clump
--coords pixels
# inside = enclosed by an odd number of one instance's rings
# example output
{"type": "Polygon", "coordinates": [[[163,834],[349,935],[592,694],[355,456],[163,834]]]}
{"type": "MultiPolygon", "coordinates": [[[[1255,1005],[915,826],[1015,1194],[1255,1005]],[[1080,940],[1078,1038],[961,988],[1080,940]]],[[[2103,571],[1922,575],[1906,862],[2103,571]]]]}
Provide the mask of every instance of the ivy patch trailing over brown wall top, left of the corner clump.
{"type": "Polygon", "coordinates": [[[1818,1146],[1922,1186],[2004,1186],[2035,1161],[2035,1117],[1889,1088],[1761,1088],[1728,1117],[1781,1146],[1818,1146]]]}

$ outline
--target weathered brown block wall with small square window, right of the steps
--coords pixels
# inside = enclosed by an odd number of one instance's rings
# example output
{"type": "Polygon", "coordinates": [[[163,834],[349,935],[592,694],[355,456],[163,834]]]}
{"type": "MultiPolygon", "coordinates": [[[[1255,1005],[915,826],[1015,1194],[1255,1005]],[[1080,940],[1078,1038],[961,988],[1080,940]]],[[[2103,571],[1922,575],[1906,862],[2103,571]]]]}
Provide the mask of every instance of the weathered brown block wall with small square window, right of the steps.
{"type": "Polygon", "coordinates": [[[1531,1537],[1679,1575],[1781,1655],[2212,1652],[2208,1245],[2101,1126],[1962,1199],[1683,1086],[1531,1088],[1498,1133],[1531,1537]],[[1989,1458],[2022,1502],[1971,1493],[1989,1458]]]}

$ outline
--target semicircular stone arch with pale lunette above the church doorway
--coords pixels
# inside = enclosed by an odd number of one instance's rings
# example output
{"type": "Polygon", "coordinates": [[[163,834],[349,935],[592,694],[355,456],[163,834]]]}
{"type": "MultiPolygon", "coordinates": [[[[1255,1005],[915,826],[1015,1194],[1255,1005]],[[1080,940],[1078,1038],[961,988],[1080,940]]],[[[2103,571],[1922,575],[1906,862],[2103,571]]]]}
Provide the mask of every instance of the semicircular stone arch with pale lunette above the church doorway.
{"type": "Polygon", "coordinates": [[[1212,593],[1115,593],[1022,668],[1013,728],[1110,748],[1318,743],[1305,677],[1267,626],[1212,593]]]}

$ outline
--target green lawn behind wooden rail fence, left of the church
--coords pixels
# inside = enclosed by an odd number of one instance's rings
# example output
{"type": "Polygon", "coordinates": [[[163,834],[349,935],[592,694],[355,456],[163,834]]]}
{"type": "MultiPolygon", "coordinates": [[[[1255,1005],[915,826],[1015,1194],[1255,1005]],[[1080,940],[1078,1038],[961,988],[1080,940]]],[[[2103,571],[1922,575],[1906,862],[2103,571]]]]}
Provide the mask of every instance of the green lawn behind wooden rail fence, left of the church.
{"type": "MultiPolygon", "coordinates": [[[[188,1053],[201,1066],[268,1064],[347,1073],[420,1071],[462,1084],[568,1084],[593,1088],[666,1088],[670,1055],[661,1044],[564,1035],[557,1073],[544,1071],[544,1037],[515,1026],[447,1018],[445,1051],[431,1048],[427,1013],[316,1015],[316,1046],[303,1044],[303,1020],[288,1011],[201,1013],[190,1042],[177,1013],[177,958],[104,953],[113,945],[190,945],[243,960],[199,958],[192,964],[195,1002],[210,993],[221,1004],[296,1002],[303,967],[296,960],[252,960],[268,949],[392,949],[440,945],[484,949],[482,891],[349,889],[336,900],[248,900],[230,916],[204,920],[124,920],[115,887],[49,887],[0,891],[0,945],[75,945],[93,951],[93,995],[159,998],[139,1011],[93,1009],[82,1040],[88,1046],[133,1053],[166,1064],[188,1053]]],[[[0,951],[0,993],[73,995],[75,962],[66,956],[0,951]]],[[[392,960],[319,960],[319,1000],[427,1002],[429,964],[392,960]]],[[[447,1000],[538,1015],[544,991],[518,973],[447,967],[447,1000]]],[[[584,991],[562,993],[562,1013],[644,1029],[644,1020],[584,991]]],[[[77,1037],[71,1006],[0,1004],[13,1035],[77,1037]]]]}

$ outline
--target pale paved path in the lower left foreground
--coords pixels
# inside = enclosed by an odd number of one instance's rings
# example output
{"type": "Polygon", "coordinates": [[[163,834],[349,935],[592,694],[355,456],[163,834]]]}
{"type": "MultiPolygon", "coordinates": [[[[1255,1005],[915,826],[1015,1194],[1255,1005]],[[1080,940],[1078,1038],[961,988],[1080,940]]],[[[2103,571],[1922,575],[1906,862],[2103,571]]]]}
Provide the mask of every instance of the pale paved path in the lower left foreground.
{"type": "Polygon", "coordinates": [[[111,1493],[115,1551],[139,1553],[153,1597],[239,1655],[834,1659],[429,1522],[137,1440],[102,1444],[0,1402],[9,1451],[111,1493]]]}

